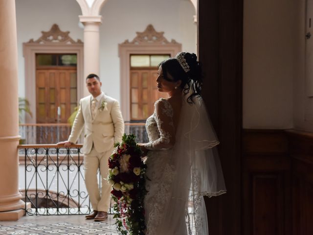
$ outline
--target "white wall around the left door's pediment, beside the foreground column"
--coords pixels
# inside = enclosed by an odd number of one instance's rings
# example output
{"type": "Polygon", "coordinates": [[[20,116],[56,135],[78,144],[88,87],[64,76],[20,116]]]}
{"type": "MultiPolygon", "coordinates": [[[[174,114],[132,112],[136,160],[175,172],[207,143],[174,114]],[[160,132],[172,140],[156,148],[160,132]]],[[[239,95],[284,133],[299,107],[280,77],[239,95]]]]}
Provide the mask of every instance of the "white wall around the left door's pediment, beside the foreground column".
{"type": "MultiPolygon", "coordinates": [[[[79,28],[81,10],[75,0],[16,0],[16,23],[18,39],[19,96],[25,96],[24,57],[22,43],[37,40],[41,31],[49,31],[58,24],[62,31],[70,31],[73,40],[83,40],[83,29],[79,28]]],[[[35,86],[35,84],[32,84],[35,86]]],[[[35,104],[31,104],[35,105],[35,104]]]]}

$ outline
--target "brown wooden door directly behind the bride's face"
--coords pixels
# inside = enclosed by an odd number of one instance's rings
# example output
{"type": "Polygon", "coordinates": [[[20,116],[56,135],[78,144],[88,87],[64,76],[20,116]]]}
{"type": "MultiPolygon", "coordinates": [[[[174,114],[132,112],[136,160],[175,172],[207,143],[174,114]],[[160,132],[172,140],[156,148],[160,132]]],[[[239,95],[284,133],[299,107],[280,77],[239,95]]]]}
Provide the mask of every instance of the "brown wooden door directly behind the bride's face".
{"type": "Polygon", "coordinates": [[[131,120],[146,120],[154,112],[157,99],[167,98],[156,84],[157,70],[131,70],[131,120]]]}

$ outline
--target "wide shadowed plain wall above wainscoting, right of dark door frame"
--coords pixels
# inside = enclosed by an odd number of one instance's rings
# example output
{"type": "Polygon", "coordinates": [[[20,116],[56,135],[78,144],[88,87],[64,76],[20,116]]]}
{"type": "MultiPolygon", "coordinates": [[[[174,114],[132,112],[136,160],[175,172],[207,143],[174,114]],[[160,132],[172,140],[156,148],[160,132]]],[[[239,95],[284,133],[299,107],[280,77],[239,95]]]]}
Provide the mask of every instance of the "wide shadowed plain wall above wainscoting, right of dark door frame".
{"type": "Polygon", "coordinates": [[[244,1],[244,128],[293,127],[297,4],[244,1]]]}

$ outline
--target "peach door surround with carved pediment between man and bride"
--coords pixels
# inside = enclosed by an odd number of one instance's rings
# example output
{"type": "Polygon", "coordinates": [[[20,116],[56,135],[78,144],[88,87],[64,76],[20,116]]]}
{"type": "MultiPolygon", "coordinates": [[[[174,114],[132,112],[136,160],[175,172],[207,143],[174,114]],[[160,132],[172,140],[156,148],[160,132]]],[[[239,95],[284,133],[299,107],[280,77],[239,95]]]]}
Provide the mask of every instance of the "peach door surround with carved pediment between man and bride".
{"type": "Polygon", "coordinates": [[[175,40],[167,41],[164,32],[156,32],[150,24],[144,32],[137,32],[132,42],[126,40],[118,45],[120,58],[120,100],[121,111],[125,121],[131,120],[130,112],[130,56],[132,54],[169,54],[171,57],[181,51],[181,44],[175,40]]]}

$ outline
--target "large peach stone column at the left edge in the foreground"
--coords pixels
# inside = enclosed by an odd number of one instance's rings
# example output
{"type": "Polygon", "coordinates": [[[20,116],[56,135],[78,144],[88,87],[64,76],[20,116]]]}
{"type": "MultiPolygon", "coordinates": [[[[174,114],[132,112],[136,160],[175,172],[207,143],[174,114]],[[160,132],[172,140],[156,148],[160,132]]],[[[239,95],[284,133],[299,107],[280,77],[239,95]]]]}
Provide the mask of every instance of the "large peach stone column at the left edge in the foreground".
{"type": "Polygon", "coordinates": [[[0,220],[18,220],[25,203],[19,192],[18,52],[15,1],[0,0],[0,220]],[[9,212],[10,211],[10,212],[9,212]]]}

